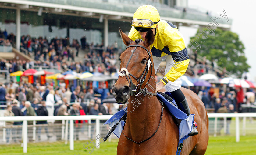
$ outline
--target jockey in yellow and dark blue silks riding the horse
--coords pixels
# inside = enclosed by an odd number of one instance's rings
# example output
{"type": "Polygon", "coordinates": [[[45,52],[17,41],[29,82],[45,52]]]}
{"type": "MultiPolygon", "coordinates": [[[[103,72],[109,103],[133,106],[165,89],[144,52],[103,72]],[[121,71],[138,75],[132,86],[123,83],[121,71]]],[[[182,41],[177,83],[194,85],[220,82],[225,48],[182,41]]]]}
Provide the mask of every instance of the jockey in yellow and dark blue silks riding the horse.
{"type": "MultiPolygon", "coordinates": [[[[145,39],[148,29],[151,29],[155,36],[154,43],[150,46],[155,72],[162,62],[166,59],[166,68],[164,78],[156,86],[156,91],[161,90],[164,86],[167,92],[170,92],[175,99],[178,108],[187,116],[190,115],[190,109],[187,99],[180,90],[181,79],[189,64],[187,49],[182,34],[177,27],[170,22],[160,19],[157,9],[151,5],[140,6],[134,13],[132,28],[129,37],[133,41],[141,38],[145,39]]],[[[195,125],[190,136],[198,134],[195,125]]]]}

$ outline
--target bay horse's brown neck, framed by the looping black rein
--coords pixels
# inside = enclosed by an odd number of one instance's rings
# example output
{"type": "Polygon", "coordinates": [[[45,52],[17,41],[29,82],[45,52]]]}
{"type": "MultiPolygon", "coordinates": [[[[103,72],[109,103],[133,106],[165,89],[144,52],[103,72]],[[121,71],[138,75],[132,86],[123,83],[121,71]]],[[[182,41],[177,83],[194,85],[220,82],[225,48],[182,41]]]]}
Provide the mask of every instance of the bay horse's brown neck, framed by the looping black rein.
{"type": "MultiPolygon", "coordinates": [[[[146,85],[148,91],[155,93],[155,77],[151,76],[151,83],[146,85]]],[[[148,81],[148,78],[147,80],[148,81]]],[[[151,136],[158,127],[161,116],[161,104],[156,96],[130,96],[128,101],[126,120],[127,136],[135,141],[141,141],[151,136]],[[138,132],[139,131],[139,132],[138,132]],[[148,134],[151,134],[148,136],[148,134]],[[144,138],[144,139],[143,139],[144,138]]]]}

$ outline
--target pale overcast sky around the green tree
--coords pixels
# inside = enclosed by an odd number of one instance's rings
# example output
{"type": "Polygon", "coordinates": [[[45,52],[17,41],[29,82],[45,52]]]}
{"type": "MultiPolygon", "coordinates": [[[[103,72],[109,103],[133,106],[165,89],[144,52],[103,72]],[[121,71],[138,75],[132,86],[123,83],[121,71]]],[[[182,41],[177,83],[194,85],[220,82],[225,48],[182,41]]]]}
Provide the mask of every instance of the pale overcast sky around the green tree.
{"type": "MultiPolygon", "coordinates": [[[[232,0],[188,0],[189,8],[196,8],[201,12],[210,12],[211,15],[216,16],[223,13],[225,9],[226,15],[229,19],[232,19],[231,31],[239,35],[240,41],[245,47],[245,56],[247,57],[247,63],[251,66],[249,69],[251,79],[256,81],[256,51],[254,45],[256,45],[256,1],[232,1],[232,0]]],[[[225,19],[226,20],[226,19],[225,19]]],[[[180,27],[180,32],[185,38],[186,45],[189,44],[190,37],[194,36],[197,29],[180,27]]]]}

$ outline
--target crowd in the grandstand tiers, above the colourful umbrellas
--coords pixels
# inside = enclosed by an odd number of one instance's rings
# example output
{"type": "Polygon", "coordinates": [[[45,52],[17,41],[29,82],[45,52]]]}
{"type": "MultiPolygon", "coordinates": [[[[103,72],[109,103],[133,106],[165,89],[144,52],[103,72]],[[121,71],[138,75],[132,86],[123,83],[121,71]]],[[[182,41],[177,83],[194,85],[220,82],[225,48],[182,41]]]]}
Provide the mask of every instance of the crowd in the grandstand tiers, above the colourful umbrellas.
{"type": "MultiPolygon", "coordinates": [[[[23,35],[20,39],[20,51],[34,58],[33,61],[21,60],[0,60],[1,70],[8,70],[9,73],[19,70],[27,70],[35,66],[46,66],[48,68],[57,68],[64,70],[74,70],[77,73],[82,72],[100,72],[111,74],[116,72],[116,56],[117,47],[112,45],[104,49],[103,44],[88,44],[86,37],[81,39],[81,46],[78,40],[73,39],[70,44],[69,37],[55,37],[48,41],[46,37],[32,38],[30,35],[23,35]],[[25,49],[25,50],[24,50],[25,49]],[[76,62],[79,50],[86,50],[84,60],[76,62]]],[[[14,45],[15,36],[7,34],[7,31],[0,30],[0,45],[14,45]],[[8,39],[9,38],[9,39],[8,39]]],[[[6,76],[5,76],[6,77],[6,76]]]]}

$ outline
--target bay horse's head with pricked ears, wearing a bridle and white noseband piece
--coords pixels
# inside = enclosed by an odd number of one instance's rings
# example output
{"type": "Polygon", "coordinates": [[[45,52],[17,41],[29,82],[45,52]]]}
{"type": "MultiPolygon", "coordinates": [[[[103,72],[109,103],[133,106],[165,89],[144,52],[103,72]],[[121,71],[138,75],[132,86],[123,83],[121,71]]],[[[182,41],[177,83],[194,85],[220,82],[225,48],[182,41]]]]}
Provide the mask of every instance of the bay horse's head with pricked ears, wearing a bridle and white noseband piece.
{"type": "MultiPolygon", "coordinates": [[[[124,104],[130,96],[138,94],[137,90],[147,85],[151,76],[155,79],[150,51],[150,45],[154,42],[154,34],[149,29],[143,42],[141,39],[131,40],[120,28],[119,32],[127,48],[120,55],[119,78],[112,90],[116,103],[124,104]]],[[[151,91],[155,92],[155,85],[153,87],[151,91]]]]}

